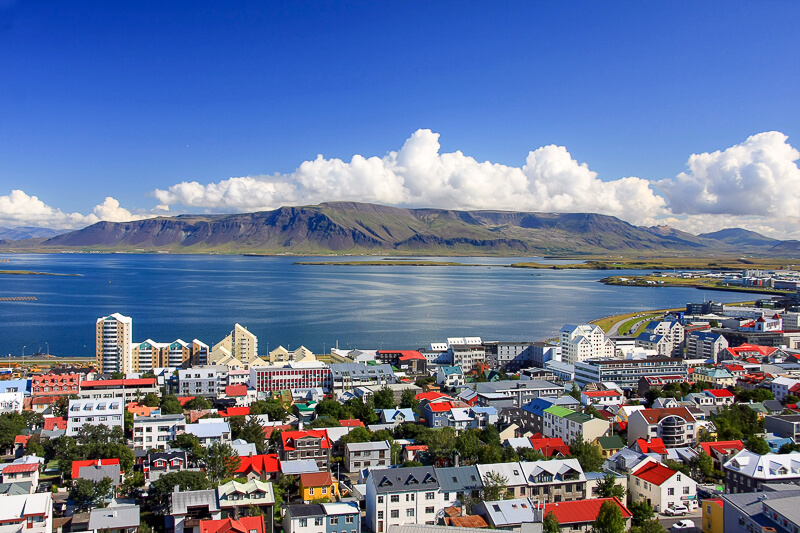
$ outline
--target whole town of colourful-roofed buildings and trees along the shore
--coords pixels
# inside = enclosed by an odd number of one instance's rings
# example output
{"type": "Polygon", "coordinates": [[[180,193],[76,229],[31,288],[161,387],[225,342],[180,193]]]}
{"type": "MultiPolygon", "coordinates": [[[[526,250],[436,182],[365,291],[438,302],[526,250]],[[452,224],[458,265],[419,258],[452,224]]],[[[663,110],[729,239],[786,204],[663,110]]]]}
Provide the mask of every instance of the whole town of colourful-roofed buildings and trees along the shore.
{"type": "Polygon", "coordinates": [[[0,533],[796,532],[799,305],[322,354],[114,313],[0,370],[0,533]]]}

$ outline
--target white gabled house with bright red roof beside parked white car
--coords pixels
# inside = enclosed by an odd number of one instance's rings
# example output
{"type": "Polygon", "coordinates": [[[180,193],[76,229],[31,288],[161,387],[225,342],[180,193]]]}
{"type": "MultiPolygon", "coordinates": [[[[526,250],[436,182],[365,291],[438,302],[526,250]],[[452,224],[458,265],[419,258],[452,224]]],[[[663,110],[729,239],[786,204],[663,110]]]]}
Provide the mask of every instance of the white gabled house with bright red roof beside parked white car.
{"type": "Polygon", "coordinates": [[[630,474],[628,491],[632,502],[645,501],[654,511],[663,512],[675,505],[691,505],[697,497],[697,482],[661,463],[648,462],[630,474]]]}

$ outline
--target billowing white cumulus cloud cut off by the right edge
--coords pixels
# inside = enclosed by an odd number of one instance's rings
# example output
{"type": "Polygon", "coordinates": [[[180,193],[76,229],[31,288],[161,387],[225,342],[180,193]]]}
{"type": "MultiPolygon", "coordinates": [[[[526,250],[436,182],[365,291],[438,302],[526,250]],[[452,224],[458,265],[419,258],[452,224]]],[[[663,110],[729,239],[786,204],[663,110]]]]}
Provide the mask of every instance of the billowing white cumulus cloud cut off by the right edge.
{"type": "Polygon", "coordinates": [[[694,154],[687,171],[659,182],[673,213],[800,216],[800,152],[768,131],[724,151],[694,154]]]}

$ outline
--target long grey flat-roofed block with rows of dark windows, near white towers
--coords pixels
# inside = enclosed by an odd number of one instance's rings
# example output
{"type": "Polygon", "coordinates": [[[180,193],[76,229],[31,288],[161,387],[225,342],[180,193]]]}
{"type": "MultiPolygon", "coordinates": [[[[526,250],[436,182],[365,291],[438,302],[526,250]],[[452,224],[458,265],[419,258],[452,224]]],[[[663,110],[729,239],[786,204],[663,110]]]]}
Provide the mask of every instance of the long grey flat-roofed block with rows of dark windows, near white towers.
{"type": "Polygon", "coordinates": [[[680,359],[591,359],[575,363],[575,383],[583,388],[589,383],[612,381],[622,390],[636,390],[643,377],[680,376],[688,379],[688,367],[680,359]]]}

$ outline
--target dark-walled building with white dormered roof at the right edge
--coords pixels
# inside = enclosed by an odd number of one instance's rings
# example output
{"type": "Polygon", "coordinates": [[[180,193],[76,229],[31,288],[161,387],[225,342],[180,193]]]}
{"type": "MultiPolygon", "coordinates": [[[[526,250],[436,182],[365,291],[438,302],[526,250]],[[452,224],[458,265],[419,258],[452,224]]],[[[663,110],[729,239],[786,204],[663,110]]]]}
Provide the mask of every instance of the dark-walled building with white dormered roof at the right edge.
{"type": "Polygon", "coordinates": [[[800,482],[800,452],[758,455],[742,450],[722,465],[727,492],[756,492],[767,483],[800,482]]]}

